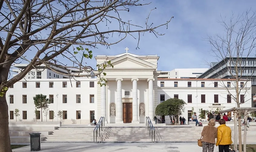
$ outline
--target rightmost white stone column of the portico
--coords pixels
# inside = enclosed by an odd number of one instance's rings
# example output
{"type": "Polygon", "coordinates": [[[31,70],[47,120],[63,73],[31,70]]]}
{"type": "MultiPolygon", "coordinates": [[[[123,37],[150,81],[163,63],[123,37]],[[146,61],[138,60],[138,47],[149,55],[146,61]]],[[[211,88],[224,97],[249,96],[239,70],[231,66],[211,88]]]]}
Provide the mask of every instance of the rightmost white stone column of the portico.
{"type": "Polygon", "coordinates": [[[148,80],[148,116],[152,120],[154,119],[154,95],[153,95],[153,81],[154,78],[148,80]]]}

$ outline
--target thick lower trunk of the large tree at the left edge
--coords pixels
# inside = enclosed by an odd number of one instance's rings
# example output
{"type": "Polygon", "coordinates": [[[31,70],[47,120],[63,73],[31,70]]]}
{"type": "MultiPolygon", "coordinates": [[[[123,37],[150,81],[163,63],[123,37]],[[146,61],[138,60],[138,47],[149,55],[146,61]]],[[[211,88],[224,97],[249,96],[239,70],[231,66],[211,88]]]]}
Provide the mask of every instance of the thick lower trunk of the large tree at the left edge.
{"type": "Polygon", "coordinates": [[[0,97],[0,152],[12,152],[9,136],[8,104],[5,95],[0,97]]]}

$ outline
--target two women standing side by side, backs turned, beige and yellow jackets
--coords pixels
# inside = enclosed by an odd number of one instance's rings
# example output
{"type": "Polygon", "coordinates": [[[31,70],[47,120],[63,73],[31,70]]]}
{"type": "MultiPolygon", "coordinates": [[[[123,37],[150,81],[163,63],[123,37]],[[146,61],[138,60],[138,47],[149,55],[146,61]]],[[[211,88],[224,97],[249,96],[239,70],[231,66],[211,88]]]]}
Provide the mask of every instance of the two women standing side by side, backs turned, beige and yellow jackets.
{"type": "Polygon", "coordinates": [[[215,119],[210,119],[207,126],[204,126],[201,132],[203,152],[213,152],[214,144],[218,146],[219,152],[229,152],[229,146],[232,144],[231,129],[226,126],[224,119],[219,119],[220,126],[215,127],[215,119]],[[215,138],[217,141],[215,143],[215,138]]]}

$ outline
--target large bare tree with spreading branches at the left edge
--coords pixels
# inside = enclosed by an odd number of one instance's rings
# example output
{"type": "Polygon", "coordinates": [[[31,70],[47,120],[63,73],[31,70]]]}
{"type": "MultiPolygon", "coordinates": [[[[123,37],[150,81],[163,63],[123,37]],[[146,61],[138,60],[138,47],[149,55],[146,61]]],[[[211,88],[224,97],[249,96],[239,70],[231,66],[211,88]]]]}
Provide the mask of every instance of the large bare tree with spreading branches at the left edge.
{"type": "MultiPolygon", "coordinates": [[[[1,1],[0,15],[3,20],[0,20],[0,151],[12,151],[5,87],[10,87],[30,70],[42,64],[70,78],[74,78],[69,70],[73,68],[86,73],[96,70],[95,76],[100,80],[104,79],[100,75],[106,64],[111,63],[106,61],[105,64],[97,65],[97,69],[87,65],[86,59],[92,58],[89,48],[97,48],[99,45],[109,48],[127,36],[132,36],[139,42],[145,32],[154,36],[164,35],[156,29],[160,26],[168,27],[173,17],[153,26],[149,14],[155,7],[145,16],[145,27],[121,17],[122,12],[127,13],[132,7],[148,4],[150,3],[142,4],[140,0],[1,1]],[[113,37],[118,40],[114,41],[113,37]],[[33,57],[29,58],[31,54],[33,57]],[[61,57],[66,59],[65,63],[61,62],[61,57]],[[11,66],[22,61],[26,61],[28,65],[8,80],[11,66]],[[66,69],[66,72],[55,70],[56,66],[66,69]]],[[[79,72],[75,76],[84,74],[79,72]]],[[[102,85],[101,81],[98,84],[102,85]]]]}

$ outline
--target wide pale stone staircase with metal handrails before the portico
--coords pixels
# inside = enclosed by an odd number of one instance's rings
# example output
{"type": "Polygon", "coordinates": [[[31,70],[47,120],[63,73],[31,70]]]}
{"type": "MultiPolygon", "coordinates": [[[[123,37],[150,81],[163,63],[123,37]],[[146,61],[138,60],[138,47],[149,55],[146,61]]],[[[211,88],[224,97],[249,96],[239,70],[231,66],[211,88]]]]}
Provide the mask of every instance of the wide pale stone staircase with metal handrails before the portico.
{"type": "MultiPolygon", "coordinates": [[[[42,142],[93,142],[94,127],[59,127],[42,142]]],[[[200,137],[201,129],[195,129],[194,126],[155,127],[156,142],[196,142],[200,137]]],[[[144,125],[109,125],[102,128],[97,142],[151,142],[151,136],[144,125]]]]}

